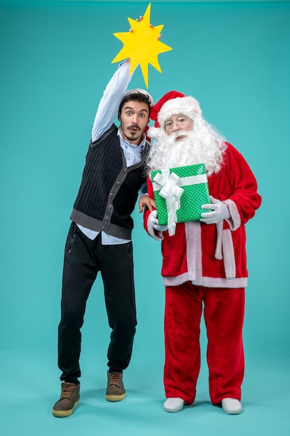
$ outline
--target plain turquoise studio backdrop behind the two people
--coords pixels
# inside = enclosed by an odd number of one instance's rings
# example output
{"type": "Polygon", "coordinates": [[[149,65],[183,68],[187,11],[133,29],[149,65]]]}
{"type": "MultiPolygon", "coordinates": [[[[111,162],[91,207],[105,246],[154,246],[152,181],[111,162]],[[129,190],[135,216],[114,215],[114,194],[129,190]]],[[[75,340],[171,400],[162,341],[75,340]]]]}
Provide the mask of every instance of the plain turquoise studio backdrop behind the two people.
{"type": "MultiPolygon", "coordinates": [[[[287,1],[156,1],[151,10],[152,24],[164,24],[161,41],[172,51],[159,56],[161,74],[150,66],[148,91],[155,101],[172,89],[199,100],[204,118],[247,159],[262,196],[247,224],[244,413],[232,418],[209,403],[204,327],[195,402],[200,407],[163,412],[160,246],[147,236],[136,210],[138,330],[125,373],[127,399],[117,405],[104,401],[110,331],[98,278],[82,329],[82,403],[66,420],[51,416],[59,395],[56,341],[69,216],[97,104],[122,48],[113,33],[127,31],[127,17],[142,15],[147,4],[0,1],[0,430],[5,436],[74,435],[79,428],[84,435],[95,430],[104,435],[109,428],[141,436],[290,431],[287,1]]],[[[130,87],[145,87],[140,70],[130,87]]]]}

